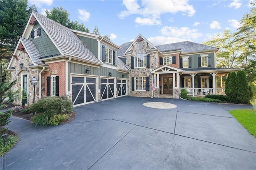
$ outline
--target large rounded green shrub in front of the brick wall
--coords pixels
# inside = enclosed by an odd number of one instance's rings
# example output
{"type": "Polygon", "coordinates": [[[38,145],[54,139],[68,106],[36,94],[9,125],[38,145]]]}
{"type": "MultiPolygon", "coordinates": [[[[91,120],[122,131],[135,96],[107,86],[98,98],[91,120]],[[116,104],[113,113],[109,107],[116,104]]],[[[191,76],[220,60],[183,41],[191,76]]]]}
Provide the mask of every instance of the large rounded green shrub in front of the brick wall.
{"type": "Polygon", "coordinates": [[[32,122],[36,125],[46,126],[54,115],[72,113],[72,106],[72,102],[65,96],[40,99],[30,107],[30,111],[37,114],[32,118],[32,122]]]}

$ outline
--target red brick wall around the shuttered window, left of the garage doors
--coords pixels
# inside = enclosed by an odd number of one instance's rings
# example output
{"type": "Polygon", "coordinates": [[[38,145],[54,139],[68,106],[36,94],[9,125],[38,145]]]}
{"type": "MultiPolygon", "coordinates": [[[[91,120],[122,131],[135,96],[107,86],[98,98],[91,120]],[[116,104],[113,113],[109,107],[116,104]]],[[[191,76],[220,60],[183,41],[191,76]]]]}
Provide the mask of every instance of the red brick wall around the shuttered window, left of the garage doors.
{"type": "Polygon", "coordinates": [[[47,79],[46,77],[48,76],[52,76],[52,75],[56,75],[56,76],[60,76],[60,80],[59,80],[59,95],[66,95],[66,64],[65,61],[60,61],[60,62],[56,62],[56,63],[48,63],[49,67],[49,71],[45,71],[44,73],[44,95],[46,96],[46,92],[47,92],[47,79]]]}

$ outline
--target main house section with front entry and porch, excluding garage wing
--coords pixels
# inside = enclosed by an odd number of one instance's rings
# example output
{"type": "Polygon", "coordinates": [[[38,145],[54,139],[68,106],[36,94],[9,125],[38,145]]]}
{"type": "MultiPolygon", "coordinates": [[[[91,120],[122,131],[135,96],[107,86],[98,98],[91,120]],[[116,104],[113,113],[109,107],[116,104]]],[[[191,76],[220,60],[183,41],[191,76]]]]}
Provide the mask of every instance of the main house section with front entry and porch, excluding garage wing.
{"type": "Polygon", "coordinates": [[[177,99],[180,89],[192,96],[225,94],[222,76],[240,69],[216,68],[217,52],[218,48],[189,41],[155,46],[139,34],[120,45],[118,57],[130,69],[129,95],[177,99]]]}

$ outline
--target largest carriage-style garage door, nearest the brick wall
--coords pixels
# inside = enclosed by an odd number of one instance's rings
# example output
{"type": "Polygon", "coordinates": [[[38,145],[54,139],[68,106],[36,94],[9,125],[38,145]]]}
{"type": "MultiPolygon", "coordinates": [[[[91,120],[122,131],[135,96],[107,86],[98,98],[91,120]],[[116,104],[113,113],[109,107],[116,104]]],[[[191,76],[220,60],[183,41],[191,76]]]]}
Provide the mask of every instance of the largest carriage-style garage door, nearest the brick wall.
{"type": "Polygon", "coordinates": [[[89,76],[72,76],[73,105],[96,102],[97,78],[89,76]]]}

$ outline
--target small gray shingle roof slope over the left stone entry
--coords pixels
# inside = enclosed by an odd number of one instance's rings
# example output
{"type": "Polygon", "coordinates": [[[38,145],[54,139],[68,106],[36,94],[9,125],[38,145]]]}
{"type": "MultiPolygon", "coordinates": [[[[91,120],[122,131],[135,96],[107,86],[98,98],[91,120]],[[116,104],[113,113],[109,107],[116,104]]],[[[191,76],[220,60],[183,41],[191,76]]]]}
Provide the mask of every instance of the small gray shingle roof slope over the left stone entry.
{"type": "Polygon", "coordinates": [[[36,48],[36,45],[34,44],[34,42],[32,40],[28,40],[26,38],[20,38],[23,46],[25,47],[29,57],[31,58],[31,60],[38,65],[47,65],[44,62],[40,61],[40,57],[42,57],[42,55],[40,54],[40,52],[38,51],[38,49],[36,48]]]}

